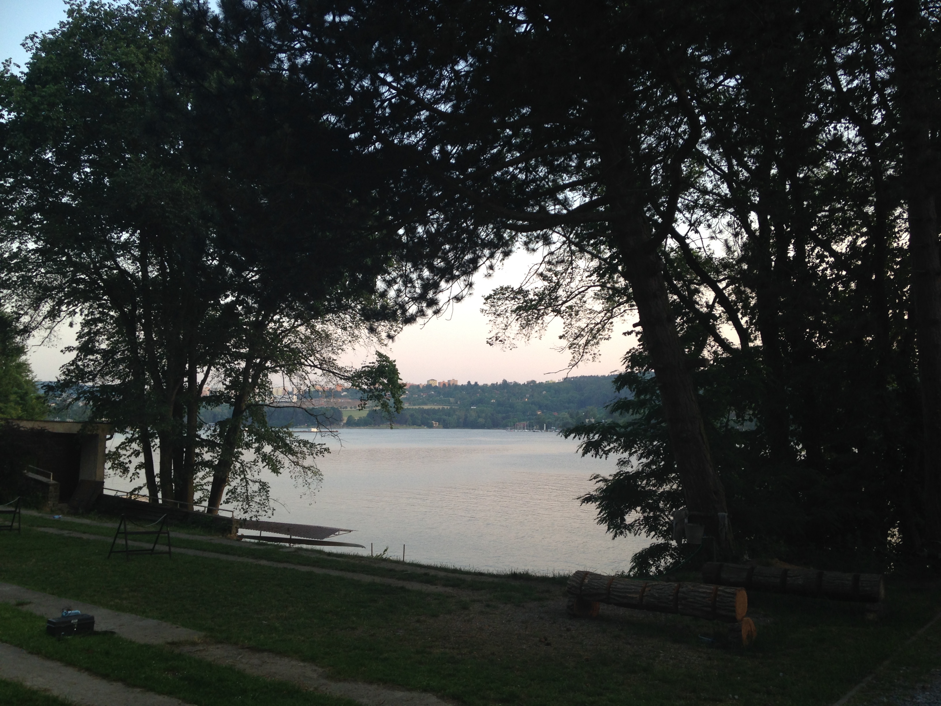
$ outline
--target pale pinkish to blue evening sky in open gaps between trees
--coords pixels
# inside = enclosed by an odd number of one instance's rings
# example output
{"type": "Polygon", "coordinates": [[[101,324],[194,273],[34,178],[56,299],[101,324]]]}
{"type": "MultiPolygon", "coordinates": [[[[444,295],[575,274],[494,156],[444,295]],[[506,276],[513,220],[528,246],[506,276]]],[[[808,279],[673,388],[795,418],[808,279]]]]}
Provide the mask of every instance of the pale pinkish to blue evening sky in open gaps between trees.
{"type": "MultiPolygon", "coordinates": [[[[65,19],[61,0],[0,0],[0,60],[12,58],[25,68],[28,56],[20,43],[33,32],[52,29],[65,19]]],[[[479,277],[475,293],[456,304],[445,315],[424,326],[412,326],[389,346],[386,353],[397,361],[402,376],[409,382],[423,382],[429,377],[457,378],[461,382],[497,382],[508,380],[559,379],[565,373],[565,353],[553,350],[559,345],[558,326],[550,327],[546,336],[529,345],[519,344],[513,350],[486,345],[488,325],[480,313],[483,297],[494,287],[515,285],[524,277],[533,262],[525,253],[514,255],[502,270],[490,279],[479,277]]],[[[630,322],[618,325],[611,341],[602,345],[598,361],[583,363],[570,375],[606,375],[618,370],[630,338],[620,335],[630,329],[630,322]]],[[[63,329],[57,340],[30,349],[30,361],[40,380],[54,379],[59,365],[66,361],[60,349],[72,343],[69,329],[63,329]]],[[[37,342],[34,342],[37,343],[37,342]]],[[[366,351],[350,353],[350,362],[365,357],[366,351]]]]}

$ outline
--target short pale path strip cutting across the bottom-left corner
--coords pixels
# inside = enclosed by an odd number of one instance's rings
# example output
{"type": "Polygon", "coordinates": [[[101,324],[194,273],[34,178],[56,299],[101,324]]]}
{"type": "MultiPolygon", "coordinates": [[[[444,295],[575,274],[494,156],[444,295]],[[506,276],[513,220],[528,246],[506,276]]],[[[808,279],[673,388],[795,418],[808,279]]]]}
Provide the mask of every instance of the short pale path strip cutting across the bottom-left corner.
{"type": "Polygon", "coordinates": [[[0,642],[0,679],[20,682],[83,706],[186,706],[179,698],[108,682],[3,642],[0,642]]]}

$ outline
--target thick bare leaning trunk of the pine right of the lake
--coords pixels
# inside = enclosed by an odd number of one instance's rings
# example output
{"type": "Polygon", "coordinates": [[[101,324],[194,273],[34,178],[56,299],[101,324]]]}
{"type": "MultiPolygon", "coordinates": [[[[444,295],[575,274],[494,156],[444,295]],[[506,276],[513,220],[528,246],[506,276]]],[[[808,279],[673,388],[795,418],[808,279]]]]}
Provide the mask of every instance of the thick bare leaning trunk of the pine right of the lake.
{"type": "Polygon", "coordinates": [[[691,513],[702,513],[709,534],[724,538],[723,552],[730,554],[731,533],[725,527],[720,531],[718,517],[728,512],[726,491],[712,467],[706,427],[679,340],[677,321],[670,310],[661,259],[649,242],[638,243],[640,238],[627,234],[620,240],[625,244],[624,271],[660,388],[663,416],[687,508],[691,513]]]}

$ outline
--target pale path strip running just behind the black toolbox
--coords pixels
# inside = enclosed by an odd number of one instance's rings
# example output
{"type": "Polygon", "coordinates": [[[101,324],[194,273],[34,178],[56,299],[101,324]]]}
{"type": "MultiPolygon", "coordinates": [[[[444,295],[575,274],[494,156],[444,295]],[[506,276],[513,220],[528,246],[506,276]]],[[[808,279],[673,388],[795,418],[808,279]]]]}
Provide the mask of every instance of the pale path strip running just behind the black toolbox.
{"type": "MultiPolygon", "coordinates": [[[[294,568],[293,565],[288,566],[294,568]]],[[[380,706],[383,704],[385,706],[447,706],[448,704],[447,701],[431,694],[404,691],[363,682],[333,682],[324,677],[324,669],[311,665],[309,662],[284,657],[273,652],[211,642],[205,634],[179,625],[173,625],[162,620],[153,620],[152,618],[141,618],[130,613],[120,613],[86,602],[70,601],[21,586],[0,584],[0,602],[20,603],[19,607],[23,610],[44,617],[56,616],[62,608],[69,606],[75,610],[93,615],[95,617],[95,630],[113,630],[121,637],[133,642],[167,645],[171,650],[183,652],[216,665],[231,666],[256,677],[290,682],[309,691],[351,698],[361,704],[366,704],[366,706],[380,706]]],[[[4,656],[0,653],[0,663],[3,660],[4,656]]],[[[56,663],[51,664],[55,665],[56,663]]],[[[0,671],[0,676],[4,676],[2,671],[0,671]]],[[[13,677],[8,677],[8,679],[13,679],[13,677]]],[[[30,686],[31,684],[27,683],[26,685],[30,686]]],[[[112,702],[89,701],[88,703],[102,703],[110,706],[112,702]]],[[[123,706],[125,701],[116,700],[113,703],[123,706]]],[[[126,703],[131,705],[132,701],[126,703]]],[[[163,703],[161,701],[158,705],[158,702],[153,702],[154,706],[162,706],[163,703]]],[[[170,699],[166,703],[179,704],[181,702],[170,699]]],[[[150,701],[137,700],[133,706],[150,706],[150,704],[150,701]]]]}

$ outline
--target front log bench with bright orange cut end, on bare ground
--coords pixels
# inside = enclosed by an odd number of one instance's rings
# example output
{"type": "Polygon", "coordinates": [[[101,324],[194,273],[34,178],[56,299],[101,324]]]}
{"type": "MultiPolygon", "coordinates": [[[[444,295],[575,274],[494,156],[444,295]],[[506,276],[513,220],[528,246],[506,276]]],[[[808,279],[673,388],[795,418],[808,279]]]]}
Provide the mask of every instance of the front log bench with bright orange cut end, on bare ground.
{"type": "Polygon", "coordinates": [[[736,623],[748,612],[745,590],[727,586],[636,581],[576,571],[566,591],[568,612],[579,617],[597,616],[600,603],[736,623]]]}

